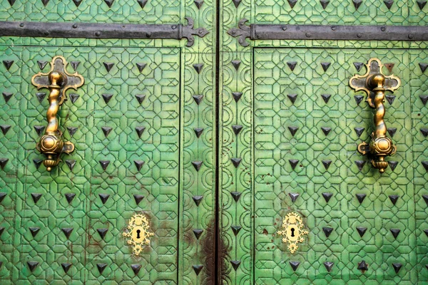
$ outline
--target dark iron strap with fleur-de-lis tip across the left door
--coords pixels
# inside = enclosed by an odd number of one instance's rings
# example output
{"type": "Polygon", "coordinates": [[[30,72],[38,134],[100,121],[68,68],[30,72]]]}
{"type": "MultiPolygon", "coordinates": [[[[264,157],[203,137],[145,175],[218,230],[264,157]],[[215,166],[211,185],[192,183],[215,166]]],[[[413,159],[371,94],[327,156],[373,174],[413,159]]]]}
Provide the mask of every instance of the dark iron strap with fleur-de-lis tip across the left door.
{"type": "Polygon", "coordinates": [[[206,28],[193,28],[193,19],[183,24],[88,24],[0,21],[0,36],[44,38],[187,38],[193,46],[193,36],[203,38],[206,28]]]}

